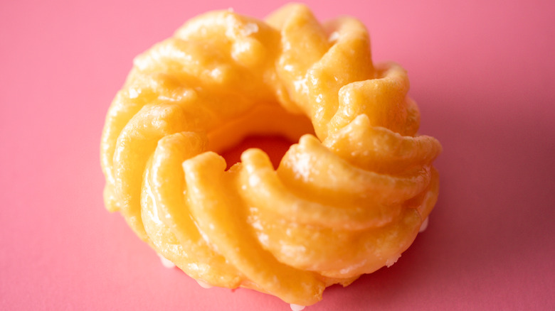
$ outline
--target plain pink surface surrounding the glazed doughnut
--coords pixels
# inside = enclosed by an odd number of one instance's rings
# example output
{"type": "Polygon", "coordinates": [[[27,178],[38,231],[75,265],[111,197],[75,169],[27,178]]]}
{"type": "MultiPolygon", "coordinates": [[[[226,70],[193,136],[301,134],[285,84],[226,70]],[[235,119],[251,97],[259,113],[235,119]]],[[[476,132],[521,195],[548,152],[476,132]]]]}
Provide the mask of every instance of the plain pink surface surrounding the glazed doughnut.
{"type": "MultiPolygon", "coordinates": [[[[200,2],[0,4],[0,310],[289,310],[163,268],[103,207],[100,131],[134,55],[198,13],[282,4],[200,2]]],[[[307,3],[364,21],[444,147],[428,230],[307,310],[555,310],[554,4],[307,3]]]]}

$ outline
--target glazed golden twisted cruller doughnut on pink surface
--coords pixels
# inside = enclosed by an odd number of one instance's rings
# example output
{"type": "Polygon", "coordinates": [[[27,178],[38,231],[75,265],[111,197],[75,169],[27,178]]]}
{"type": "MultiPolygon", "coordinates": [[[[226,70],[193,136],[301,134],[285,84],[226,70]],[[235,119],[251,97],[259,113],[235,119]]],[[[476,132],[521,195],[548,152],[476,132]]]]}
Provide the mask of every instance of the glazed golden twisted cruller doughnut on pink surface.
{"type": "Polygon", "coordinates": [[[440,143],[355,18],[213,11],[133,64],[102,131],[105,205],[201,285],[300,310],[395,263],[437,201],[440,143]],[[296,143],[277,168],[257,148],[227,168],[253,135],[296,143]]]}

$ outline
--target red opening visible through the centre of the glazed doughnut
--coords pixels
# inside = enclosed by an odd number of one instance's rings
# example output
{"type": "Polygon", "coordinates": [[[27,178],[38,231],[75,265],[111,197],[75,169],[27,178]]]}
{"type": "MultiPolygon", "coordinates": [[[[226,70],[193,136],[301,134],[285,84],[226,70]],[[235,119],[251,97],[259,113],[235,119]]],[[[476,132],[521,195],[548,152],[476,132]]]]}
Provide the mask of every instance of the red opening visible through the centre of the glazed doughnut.
{"type": "Polygon", "coordinates": [[[265,153],[268,153],[270,157],[270,161],[272,161],[272,165],[274,169],[277,169],[277,166],[280,165],[280,161],[283,158],[283,155],[289,150],[290,146],[296,141],[291,141],[283,136],[277,135],[270,135],[270,136],[263,136],[263,135],[253,135],[245,137],[240,143],[236,146],[228,148],[221,153],[221,156],[226,159],[227,168],[229,170],[231,166],[235,165],[236,163],[240,162],[241,154],[250,148],[259,148],[265,153]]]}

